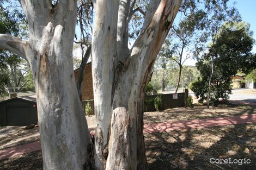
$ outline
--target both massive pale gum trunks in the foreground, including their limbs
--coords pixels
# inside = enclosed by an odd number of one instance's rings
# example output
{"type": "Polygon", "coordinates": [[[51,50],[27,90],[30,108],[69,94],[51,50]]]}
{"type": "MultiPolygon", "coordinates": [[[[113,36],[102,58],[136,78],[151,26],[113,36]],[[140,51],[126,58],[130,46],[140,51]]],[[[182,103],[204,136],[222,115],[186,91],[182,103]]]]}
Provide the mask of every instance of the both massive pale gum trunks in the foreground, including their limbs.
{"type": "Polygon", "coordinates": [[[77,1],[19,2],[29,39],[1,34],[0,49],[22,56],[32,68],[44,169],[147,169],[143,91],[181,1],[150,1],[131,49],[127,28],[135,1],[93,2],[95,144],[72,67],[77,1]]]}

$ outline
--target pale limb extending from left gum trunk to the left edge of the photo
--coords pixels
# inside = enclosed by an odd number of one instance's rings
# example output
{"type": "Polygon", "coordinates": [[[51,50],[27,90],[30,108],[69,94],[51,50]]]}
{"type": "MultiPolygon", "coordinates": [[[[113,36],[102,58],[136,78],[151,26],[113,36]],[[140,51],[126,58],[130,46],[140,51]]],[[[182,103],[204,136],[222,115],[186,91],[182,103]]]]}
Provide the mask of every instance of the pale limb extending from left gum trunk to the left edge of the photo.
{"type": "Polygon", "coordinates": [[[13,52],[23,59],[27,60],[26,57],[27,42],[18,39],[12,35],[0,34],[0,49],[8,50],[13,52]]]}

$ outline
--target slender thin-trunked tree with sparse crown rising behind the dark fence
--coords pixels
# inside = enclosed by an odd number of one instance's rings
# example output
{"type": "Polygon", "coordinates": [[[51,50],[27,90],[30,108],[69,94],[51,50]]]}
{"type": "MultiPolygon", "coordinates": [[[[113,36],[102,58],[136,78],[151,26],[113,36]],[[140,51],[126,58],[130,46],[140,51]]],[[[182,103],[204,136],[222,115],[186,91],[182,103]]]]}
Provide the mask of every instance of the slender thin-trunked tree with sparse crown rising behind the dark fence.
{"type": "Polygon", "coordinates": [[[184,62],[193,55],[199,53],[200,44],[206,39],[199,34],[199,30],[204,29],[204,18],[206,12],[203,10],[194,11],[179,22],[178,26],[173,26],[168,39],[166,39],[160,55],[173,60],[179,67],[178,81],[175,93],[180,85],[182,66],[184,62]]]}

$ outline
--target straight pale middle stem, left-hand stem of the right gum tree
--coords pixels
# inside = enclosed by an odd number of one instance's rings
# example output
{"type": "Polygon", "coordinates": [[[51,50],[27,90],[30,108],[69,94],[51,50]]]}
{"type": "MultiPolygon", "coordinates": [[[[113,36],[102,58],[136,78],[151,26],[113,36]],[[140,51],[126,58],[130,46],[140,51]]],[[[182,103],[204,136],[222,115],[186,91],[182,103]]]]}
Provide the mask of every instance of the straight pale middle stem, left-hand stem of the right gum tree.
{"type": "Polygon", "coordinates": [[[97,1],[92,40],[92,72],[94,89],[95,166],[105,169],[103,150],[108,144],[112,117],[114,67],[117,56],[118,1],[97,1]]]}

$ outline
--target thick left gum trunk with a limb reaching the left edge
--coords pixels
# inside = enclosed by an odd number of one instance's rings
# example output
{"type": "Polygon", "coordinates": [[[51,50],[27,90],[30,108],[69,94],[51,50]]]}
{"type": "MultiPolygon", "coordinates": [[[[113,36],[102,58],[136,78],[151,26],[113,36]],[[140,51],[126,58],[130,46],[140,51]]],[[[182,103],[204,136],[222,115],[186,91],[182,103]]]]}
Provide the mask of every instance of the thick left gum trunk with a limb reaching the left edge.
{"type": "Polygon", "coordinates": [[[0,35],[8,49],[31,65],[38,105],[44,169],[87,169],[92,152],[72,67],[76,1],[20,1],[29,40],[0,35]]]}

